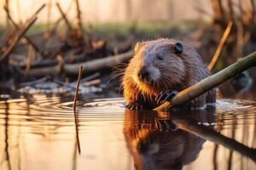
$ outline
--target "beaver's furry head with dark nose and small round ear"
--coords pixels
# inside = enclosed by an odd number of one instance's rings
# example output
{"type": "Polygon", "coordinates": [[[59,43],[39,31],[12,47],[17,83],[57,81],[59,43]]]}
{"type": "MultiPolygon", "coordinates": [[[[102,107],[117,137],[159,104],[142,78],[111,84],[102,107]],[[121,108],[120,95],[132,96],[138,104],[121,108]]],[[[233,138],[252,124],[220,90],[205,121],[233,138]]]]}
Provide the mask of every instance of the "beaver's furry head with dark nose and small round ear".
{"type": "Polygon", "coordinates": [[[160,39],[138,42],[132,59],[132,78],[143,91],[178,87],[186,76],[184,58],[189,57],[183,42],[160,39]]]}

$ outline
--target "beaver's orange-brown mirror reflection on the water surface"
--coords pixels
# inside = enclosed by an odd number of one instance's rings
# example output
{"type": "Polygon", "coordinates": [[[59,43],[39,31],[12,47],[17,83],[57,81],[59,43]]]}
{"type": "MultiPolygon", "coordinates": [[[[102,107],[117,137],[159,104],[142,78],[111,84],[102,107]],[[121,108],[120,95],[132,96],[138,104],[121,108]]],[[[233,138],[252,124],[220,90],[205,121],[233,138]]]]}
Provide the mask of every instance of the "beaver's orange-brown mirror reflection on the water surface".
{"type": "MultiPolygon", "coordinates": [[[[182,130],[175,119],[214,122],[212,111],[125,111],[124,135],[136,169],[182,169],[195,161],[205,140],[182,130]]],[[[214,124],[214,123],[213,123],[214,124]]]]}

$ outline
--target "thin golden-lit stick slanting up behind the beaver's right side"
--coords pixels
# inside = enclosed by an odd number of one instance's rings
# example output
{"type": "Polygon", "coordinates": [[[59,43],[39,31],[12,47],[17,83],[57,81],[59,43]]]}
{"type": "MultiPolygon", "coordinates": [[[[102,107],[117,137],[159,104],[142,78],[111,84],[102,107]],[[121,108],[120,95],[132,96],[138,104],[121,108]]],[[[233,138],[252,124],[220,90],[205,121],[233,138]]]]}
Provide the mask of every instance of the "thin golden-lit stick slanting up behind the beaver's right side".
{"type": "Polygon", "coordinates": [[[230,21],[228,26],[226,27],[226,30],[224,31],[223,36],[221,37],[220,42],[218,43],[218,48],[216,49],[215,54],[212,57],[212,61],[208,65],[208,69],[210,71],[212,70],[213,66],[216,64],[218,60],[218,56],[221,53],[222,49],[224,48],[224,42],[226,42],[227,38],[229,37],[232,26],[233,26],[233,22],[230,21]]]}

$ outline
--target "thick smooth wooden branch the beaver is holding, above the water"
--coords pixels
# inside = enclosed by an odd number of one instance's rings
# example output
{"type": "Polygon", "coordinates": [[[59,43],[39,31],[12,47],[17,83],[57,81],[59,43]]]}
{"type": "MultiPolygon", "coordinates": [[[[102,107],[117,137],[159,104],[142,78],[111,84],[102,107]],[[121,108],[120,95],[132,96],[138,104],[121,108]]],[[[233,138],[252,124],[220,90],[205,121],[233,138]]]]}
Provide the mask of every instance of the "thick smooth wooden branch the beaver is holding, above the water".
{"type": "Polygon", "coordinates": [[[154,110],[166,110],[173,105],[181,105],[192,99],[195,99],[201,94],[206,93],[208,90],[217,87],[222,82],[229,80],[231,77],[236,76],[242,71],[256,65],[256,51],[246,57],[240,59],[233,65],[228,66],[222,71],[218,71],[214,75],[205,78],[201,82],[197,82],[190,88],[186,88],[178,93],[171,102],[167,101],[164,104],[156,107],[154,110]]]}

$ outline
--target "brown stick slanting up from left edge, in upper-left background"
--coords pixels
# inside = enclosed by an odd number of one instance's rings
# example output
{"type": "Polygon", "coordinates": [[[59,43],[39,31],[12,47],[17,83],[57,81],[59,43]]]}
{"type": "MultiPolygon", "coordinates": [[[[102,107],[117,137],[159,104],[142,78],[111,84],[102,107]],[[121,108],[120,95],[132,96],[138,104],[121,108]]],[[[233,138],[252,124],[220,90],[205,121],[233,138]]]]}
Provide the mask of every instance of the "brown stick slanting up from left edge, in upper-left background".
{"type": "Polygon", "coordinates": [[[6,51],[3,53],[3,55],[0,57],[0,61],[3,61],[15,48],[15,45],[20,41],[20,38],[23,37],[26,34],[26,31],[34,24],[34,22],[37,20],[37,17],[32,18],[32,20],[28,20],[26,26],[20,29],[20,31],[17,33],[17,36],[13,39],[11,44],[9,45],[9,48],[6,49],[6,51]]]}

